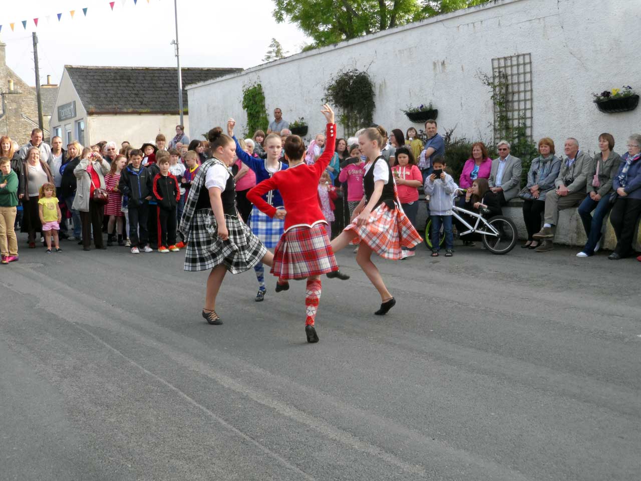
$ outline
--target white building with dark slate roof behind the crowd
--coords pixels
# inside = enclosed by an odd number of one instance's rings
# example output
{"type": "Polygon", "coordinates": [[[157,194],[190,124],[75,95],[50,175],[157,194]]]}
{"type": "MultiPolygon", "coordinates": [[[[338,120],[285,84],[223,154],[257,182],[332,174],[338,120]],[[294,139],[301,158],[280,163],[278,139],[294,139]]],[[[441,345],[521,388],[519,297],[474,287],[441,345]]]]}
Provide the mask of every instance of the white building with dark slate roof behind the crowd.
{"type": "MultiPolygon", "coordinates": [[[[225,76],[242,69],[182,68],[183,85],[225,76]]],[[[174,137],[180,121],[176,67],[89,67],[65,65],[49,121],[52,135],[83,146],[100,140],[133,146],[153,142],[158,133],[174,137]]],[[[189,131],[187,90],[183,124],[189,131]]],[[[200,132],[198,132],[200,133],[200,132]]],[[[192,133],[193,134],[193,133],[192,133]]]]}

